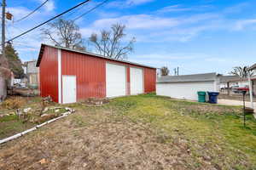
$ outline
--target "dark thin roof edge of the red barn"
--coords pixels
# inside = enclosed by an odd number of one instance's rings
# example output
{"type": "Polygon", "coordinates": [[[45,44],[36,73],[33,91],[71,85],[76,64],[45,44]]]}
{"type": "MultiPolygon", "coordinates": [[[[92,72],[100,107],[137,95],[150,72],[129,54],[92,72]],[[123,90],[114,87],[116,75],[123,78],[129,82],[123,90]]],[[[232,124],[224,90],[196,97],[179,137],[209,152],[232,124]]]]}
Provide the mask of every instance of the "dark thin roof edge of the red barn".
{"type": "Polygon", "coordinates": [[[63,49],[63,50],[71,51],[71,52],[74,52],[74,53],[87,54],[87,55],[91,55],[91,56],[99,57],[99,58],[103,58],[103,59],[110,59],[110,60],[114,60],[114,61],[119,61],[119,62],[123,62],[123,63],[128,63],[128,64],[131,64],[131,65],[139,65],[139,66],[143,66],[143,67],[148,67],[148,68],[156,69],[156,68],[153,67],[153,66],[142,65],[142,64],[135,63],[135,62],[131,62],[131,61],[125,61],[125,60],[122,60],[122,59],[111,59],[111,58],[105,57],[105,56],[100,55],[100,54],[93,54],[93,53],[90,53],[90,52],[84,52],[84,51],[79,51],[79,50],[72,49],[72,48],[64,48],[64,47],[60,47],[60,46],[53,46],[53,45],[48,45],[48,44],[44,44],[44,43],[41,44],[40,52],[39,52],[39,54],[38,54],[37,66],[40,65],[40,62],[41,62],[41,59],[42,59],[42,57],[43,57],[43,53],[44,53],[44,48],[45,48],[45,47],[63,49]]]}

